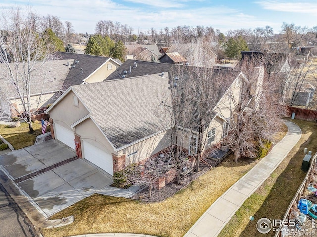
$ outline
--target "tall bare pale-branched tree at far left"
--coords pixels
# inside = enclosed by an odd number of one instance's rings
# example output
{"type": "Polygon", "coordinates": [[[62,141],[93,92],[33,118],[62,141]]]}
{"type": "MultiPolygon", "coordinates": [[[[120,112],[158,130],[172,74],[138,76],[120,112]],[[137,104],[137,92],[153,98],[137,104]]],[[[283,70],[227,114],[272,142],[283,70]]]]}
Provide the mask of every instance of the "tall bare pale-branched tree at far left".
{"type": "Polygon", "coordinates": [[[5,31],[0,33],[0,78],[21,101],[24,111],[16,109],[16,112],[28,123],[30,133],[33,133],[31,93],[33,87],[43,89],[46,83],[43,80],[42,84],[36,84],[33,80],[52,55],[50,45],[44,44],[33,28],[34,16],[31,12],[23,13],[21,9],[3,13],[1,22],[5,31]]]}

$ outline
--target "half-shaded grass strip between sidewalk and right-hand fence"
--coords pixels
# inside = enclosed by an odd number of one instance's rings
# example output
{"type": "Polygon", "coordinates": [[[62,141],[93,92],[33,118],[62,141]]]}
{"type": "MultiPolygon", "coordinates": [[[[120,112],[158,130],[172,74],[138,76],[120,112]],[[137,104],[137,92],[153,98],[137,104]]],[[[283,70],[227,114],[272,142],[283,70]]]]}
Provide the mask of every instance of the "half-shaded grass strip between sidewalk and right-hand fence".
{"type": "MultiPolygon", "coordinates": [[[[263,237],[256,229],[262,217],[280,219],[302,184],[306,173],[301,170],[304,148],[317,151],[317,125],[313,122],[292,120],[302,130],[302,137],[270,177],[252,194],[235,213],[218,237],[263,237]],[[250,221],[249,217],[255,220],[250,221]]],[[[267,237],[273,237],[271,231],[267,237]]]]}

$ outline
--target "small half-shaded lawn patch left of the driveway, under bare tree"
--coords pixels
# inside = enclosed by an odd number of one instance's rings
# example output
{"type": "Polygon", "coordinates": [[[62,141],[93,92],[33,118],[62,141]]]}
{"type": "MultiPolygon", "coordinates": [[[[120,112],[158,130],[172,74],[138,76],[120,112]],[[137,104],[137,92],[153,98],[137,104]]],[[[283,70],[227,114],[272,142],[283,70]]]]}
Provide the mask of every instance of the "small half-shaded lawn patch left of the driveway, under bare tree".
{"type": "MultiPolygon", "coordinates": [[[[38,135],[42,134],[41,122],[33,122],[34,133],[29,133],[29,126],[26,122],[22,122],[20,127],[10,128],[8,125],[0,125],[0,135],[5,138],[15,150],[34,144],[38,135]]],[[[50,126],[47,126],[46,131],[50,131],[50,126]]]]}

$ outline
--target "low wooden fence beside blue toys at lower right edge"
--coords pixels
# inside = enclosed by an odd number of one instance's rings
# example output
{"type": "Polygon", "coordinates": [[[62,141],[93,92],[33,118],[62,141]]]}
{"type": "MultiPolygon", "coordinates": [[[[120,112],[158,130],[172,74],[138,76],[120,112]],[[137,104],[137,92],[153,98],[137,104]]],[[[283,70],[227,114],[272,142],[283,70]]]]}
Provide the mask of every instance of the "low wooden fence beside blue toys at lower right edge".
{"type": "MultiPolygon", "coordinates": [[[[301,186],[299,187],[299,189],[297,190],[297,193],[295,194],[291,204],[288,206],[288,209],[286,211],[286,214],[284,215],[283,220],[288,220],[289,219],[289,216],[290,216],[290,214],[291,214],[291,212],[293,210],[293,205],[294,204],[296,205],[296,203],[298,203],[298,201],[303,197],[303,195],[305,193],[305,189],[306,189],[306,187],[308,185],[308,180],[309,180],[310,176],[312,175],[312,173],[314,171],[314,166],[315,166],[316,160],[317,160],[317,152],[315,153],[315,155],[311,159],[311,165],[309,167],[309,170],[307,171],[305,179],[304,179],[303,183],[301,184],[301,186]]],[[[275,237],[282,237],[282,231],[276,232],[275,237]]]]}

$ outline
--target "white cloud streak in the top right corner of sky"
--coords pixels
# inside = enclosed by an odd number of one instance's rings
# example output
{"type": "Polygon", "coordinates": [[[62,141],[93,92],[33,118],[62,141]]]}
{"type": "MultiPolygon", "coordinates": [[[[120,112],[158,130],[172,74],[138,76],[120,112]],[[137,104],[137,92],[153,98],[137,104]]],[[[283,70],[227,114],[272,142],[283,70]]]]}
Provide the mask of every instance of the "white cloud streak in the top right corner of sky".
{"type": "Polygon", "coordinates": [[[306,13],[317,15],[317,1],[311,2],[279,2],[279,1],[256,1],[257,4],[266,10],[293,12],[293,13],[306,13]]]}

